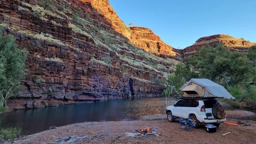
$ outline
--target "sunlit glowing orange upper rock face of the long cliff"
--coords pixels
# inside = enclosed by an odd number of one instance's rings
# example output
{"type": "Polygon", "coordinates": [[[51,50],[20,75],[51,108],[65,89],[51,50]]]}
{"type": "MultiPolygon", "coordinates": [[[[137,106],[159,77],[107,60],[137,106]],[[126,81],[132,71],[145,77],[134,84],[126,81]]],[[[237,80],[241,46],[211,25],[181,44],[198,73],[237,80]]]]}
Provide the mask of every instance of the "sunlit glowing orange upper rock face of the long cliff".
{"type": "MultiPolygon", "coordinates": [[[[85,1],[85,0],[82,0],[85,1]]],[[[116,12],[113,10],[108,0],[86,0],[90,1],[92,6],[104,15],[107,21],[112,24],[112,28],[127,37],[129,41],[139,48],[145,49],[149,53],[166,58],[182,60],[181,53],[173,47],[161,41],[152,30],[145,27],[127,27],[120,20],[116,12]]]]}

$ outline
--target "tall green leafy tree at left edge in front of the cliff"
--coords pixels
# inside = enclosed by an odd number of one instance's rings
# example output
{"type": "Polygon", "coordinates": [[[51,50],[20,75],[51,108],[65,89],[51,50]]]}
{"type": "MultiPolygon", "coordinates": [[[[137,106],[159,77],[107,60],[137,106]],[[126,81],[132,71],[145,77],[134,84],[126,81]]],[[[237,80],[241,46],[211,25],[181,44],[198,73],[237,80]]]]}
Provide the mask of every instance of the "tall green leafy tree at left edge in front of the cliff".
{"type": "Polygon", "coordinates": [[[0,26],[0,107],[20,88],[20,79],[26,76],[26,51],[17,48],[12,35],[3,36],[0,26]]]}

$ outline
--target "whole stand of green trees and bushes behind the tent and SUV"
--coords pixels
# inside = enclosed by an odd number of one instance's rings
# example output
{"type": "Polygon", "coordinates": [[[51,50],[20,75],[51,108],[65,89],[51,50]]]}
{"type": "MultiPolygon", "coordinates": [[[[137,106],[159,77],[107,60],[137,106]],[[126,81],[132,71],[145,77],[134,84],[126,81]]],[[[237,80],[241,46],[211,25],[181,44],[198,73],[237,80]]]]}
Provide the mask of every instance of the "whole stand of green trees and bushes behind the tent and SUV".
{"type": "Polygon", "coordinates": [[[248,53],[241,53],[232,52],[222,44],[207,45],[184,61],[185,65],[177,65],[175,74],[169,76],[166,92],[172,88],[174,93],[181,94],[178,88],[191,78],[207,78],[223,85],[236,97],[235,101],[226,100],[232,105],[256,105],[256,46],[250,47],[248,53]]]}

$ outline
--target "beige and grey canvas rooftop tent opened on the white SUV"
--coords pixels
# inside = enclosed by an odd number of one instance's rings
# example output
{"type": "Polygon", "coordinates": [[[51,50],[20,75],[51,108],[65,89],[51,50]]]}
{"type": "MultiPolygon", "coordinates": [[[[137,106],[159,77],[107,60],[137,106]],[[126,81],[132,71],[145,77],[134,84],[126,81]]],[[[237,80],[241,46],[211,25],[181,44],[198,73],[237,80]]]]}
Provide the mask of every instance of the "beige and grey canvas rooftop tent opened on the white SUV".
{"type": "Polygon", "coordinates": [[[234,99],[221,85],[208,79],[191,79],[181,88],[184,97],[219,97],[234,99]]]}

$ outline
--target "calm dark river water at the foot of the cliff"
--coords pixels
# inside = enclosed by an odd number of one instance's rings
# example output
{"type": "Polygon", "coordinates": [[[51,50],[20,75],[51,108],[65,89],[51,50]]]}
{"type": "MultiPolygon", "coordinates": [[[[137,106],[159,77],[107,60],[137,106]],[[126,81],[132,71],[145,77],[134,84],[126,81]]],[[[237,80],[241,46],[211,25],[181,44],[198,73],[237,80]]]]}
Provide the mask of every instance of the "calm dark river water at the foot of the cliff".
{"type": "MultiPolygon", "coordinates": [[[[168,98],[169,104],[176,101],[168,98]]],[[[137,120],[140,116],[164,114],[165,106],[165,97],[154,97],[17,110],[0,114],[0,127],[20,127],[22,135],[27,135],[80,122],[137,120]]]]}

